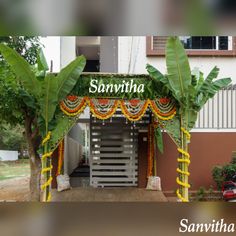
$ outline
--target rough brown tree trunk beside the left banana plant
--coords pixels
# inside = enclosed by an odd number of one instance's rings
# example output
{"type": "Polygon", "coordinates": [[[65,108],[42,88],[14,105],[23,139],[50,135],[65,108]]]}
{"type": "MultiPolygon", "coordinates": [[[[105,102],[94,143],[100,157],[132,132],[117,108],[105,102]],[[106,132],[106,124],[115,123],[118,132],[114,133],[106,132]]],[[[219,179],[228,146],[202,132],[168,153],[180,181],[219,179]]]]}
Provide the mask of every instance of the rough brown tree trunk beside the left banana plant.
{"type": "Polygon", "coordinates": [[[28,144],[30,160],[30,201],[40,201],[41,159],[38,150],[37,134],[31,130],[32,119],[25,117],[25,135],[28,144]]]}

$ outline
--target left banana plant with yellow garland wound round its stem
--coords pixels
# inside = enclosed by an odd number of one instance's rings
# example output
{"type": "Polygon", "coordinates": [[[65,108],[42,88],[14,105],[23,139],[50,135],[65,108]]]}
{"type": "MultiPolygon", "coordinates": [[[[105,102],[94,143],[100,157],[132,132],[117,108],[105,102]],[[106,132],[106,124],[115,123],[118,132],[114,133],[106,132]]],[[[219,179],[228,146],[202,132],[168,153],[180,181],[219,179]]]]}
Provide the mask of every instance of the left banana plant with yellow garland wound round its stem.
{"type": "MultiPolygon", "coordinates": [[[[59,129],[57,122],[50,125],[55,119],[55,113],[59,102],[65,99],[71,92],[82,73],[86,60],[80,56],[63,68],[57,75],[48,73],[48,65],[43,52],[38,53],[38,68],[35,70],[22,58],[15,50],[4,44],[0,44],[0,52],[12,67],[19,82],[25,90],[35,98],[36,113],[41,130],[41,137],[44,138],[43,156],[50,157],[48,141],[51,139],[50,133],[59,129]],[[41,121],[41,122],[39,122],[41,121]]],[[[42,158],[42,168],[46,183],[49,183],[51,176],[51,158],[42,158]]],[[[50,199],[50,184],[45,185],[43,200],[50,199]]]]}

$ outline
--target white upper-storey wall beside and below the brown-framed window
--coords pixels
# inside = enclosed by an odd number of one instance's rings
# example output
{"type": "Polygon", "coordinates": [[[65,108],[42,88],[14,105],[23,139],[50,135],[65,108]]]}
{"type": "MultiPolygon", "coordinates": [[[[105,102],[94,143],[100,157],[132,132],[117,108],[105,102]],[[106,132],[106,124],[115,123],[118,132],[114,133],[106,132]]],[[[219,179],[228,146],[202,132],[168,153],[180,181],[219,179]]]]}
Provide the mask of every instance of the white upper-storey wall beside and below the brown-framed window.
{"type": "MultiPolygon", "coordinates": [[[[217,65],[220,68],[219,78],[231,77],[236,83],[235,57],[189,57],[190,66],[198,67],[205,75],[217,65]]],[[[145,66],[149,63],[162,73],[166,72],[164,57],[146,56],[146,37],[119,37],[118,41],[118,72],[146,74],[145,66]]]]}

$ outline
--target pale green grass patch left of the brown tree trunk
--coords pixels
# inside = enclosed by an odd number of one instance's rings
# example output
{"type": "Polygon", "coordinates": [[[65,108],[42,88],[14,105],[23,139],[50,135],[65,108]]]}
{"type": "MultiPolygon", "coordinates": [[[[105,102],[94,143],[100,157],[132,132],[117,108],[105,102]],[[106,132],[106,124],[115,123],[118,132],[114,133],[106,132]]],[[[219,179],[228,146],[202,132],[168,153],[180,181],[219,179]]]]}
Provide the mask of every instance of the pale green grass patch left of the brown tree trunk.
{"type": "Polygon", "coordinates": [[[0,161],[0,181],[30,175],[28,159],[17,161],[0,161]]]}

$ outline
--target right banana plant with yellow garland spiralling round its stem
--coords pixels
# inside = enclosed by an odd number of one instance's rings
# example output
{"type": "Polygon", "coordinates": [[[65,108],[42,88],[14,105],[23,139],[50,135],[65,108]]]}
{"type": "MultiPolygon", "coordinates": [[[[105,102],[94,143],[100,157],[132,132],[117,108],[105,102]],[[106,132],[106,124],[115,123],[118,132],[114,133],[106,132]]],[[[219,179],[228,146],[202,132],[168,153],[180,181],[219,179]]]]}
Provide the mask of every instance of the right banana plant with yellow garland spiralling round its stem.
{"type": "Polygon", "coordinates": [[[166,88],[176,101],[178,113],[174,117],[173,124],[166,126],[166,131],[173,137],[178,146],[180,157],[177,172],[177,183],[180,188],[177,196],[181,201],[189,201],[188,188],[188,166],[190,156],[188,146],[190,143],[190,131],[194,127],[198,112],[204,104],[222,88],[231,83],[230,78],[216,80],[219,69],[214,67],[204,79],[200,71],[191,72],[189,60],[184,47],[178,37],[170,37],[166,44],[166,66],[167,74],[164,75],[151,65],[147,65],[150,77],[166,88]],[[173,136],[173,134],[175,136],[173,136]]]}

